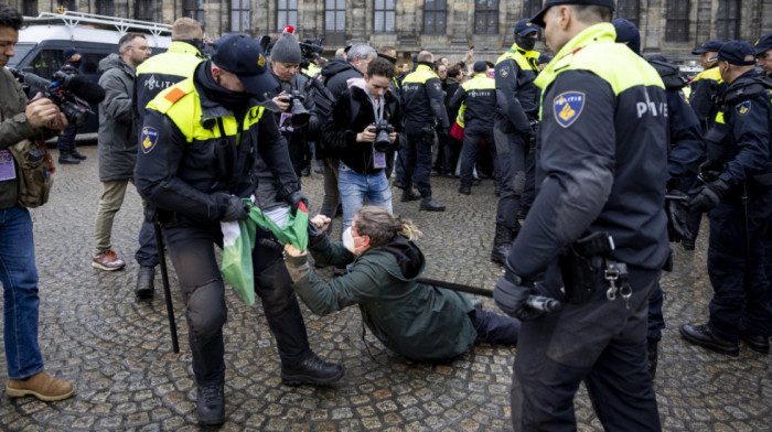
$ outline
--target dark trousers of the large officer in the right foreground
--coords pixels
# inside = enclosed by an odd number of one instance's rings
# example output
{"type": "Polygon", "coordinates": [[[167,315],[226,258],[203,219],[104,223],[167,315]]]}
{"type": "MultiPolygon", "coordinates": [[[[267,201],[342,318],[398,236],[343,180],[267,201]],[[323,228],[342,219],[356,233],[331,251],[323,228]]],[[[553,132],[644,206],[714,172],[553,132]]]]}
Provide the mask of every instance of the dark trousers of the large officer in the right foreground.
{"type": "MultiPolygon", "coordinates": [[[[646,311],[660,271],[630,268],[630,309],[592,300],[522,323],[512,379],[515,431],[576,431],[573,397],[585,385],[607,431],[661,431],[647,372],[646,311]]],[[[558,296],[558,289],[550,296],[558,296]]]]}

